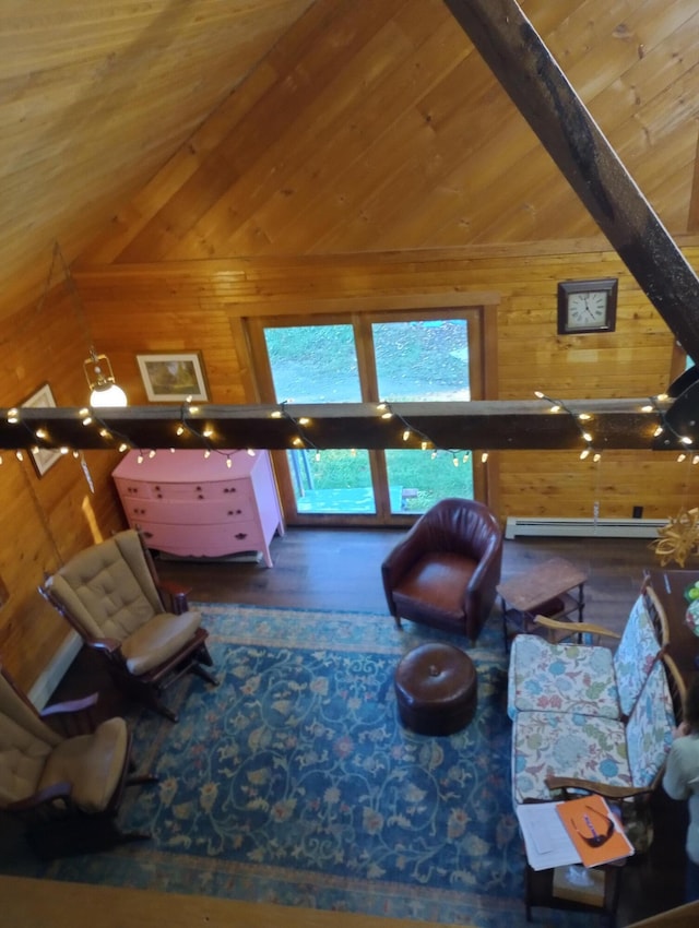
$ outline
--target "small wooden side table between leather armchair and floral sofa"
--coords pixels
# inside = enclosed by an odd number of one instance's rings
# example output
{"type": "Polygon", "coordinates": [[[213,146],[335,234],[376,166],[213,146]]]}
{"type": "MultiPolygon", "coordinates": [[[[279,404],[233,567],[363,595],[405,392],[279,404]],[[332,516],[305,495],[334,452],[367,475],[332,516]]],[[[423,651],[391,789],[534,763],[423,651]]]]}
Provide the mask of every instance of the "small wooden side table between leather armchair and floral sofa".
{"type": "Polygon", "coordinates": [[[536,615],[564,619],[577,612],[581,622],[587,580],[585,571],[564,558],[552,558],[500,583],[497,592],[502,605],[505,650],[511,636],[508,632],[546,633],[534,624],[536,615]]]}

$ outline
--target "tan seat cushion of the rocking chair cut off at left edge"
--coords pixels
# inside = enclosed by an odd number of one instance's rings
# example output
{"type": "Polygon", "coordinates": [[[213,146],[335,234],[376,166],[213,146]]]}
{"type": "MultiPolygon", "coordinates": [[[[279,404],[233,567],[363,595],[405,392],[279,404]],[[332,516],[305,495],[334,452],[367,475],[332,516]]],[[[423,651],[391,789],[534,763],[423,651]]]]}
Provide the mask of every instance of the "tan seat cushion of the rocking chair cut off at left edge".
{"type": "Polygon", "coordinates": [[[103,722],[92,735],[68,738],[46,761],[38,788],[70,783],[71,798],[83,812],[103,812],[119,785],[128,745],[123,718],[103,722]]]}

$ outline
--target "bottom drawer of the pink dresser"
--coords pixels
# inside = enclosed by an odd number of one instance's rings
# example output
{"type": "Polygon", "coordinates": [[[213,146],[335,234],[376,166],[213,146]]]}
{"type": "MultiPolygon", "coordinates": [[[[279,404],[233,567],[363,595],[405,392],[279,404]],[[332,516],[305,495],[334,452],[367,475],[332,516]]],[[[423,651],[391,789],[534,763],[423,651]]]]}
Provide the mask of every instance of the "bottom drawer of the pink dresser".
{"type": "Polygon", "coordinates": [[[185,558],[222,557],[265,548],[264,538],[254,522],[241,522],[235,526],[143,522],[139,527],[149,548],[185,558]]]}

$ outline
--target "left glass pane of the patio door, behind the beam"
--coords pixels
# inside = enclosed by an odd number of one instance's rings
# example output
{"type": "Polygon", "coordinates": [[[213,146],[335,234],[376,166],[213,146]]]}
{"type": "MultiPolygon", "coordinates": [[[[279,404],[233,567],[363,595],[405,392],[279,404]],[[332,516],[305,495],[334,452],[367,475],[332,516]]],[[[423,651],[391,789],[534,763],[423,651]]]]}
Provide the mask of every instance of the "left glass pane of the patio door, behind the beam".
{"type": "MultiPolygon", "coordinates": [[[[279,403],[362,402],[352,325],[265,329],[264,340],[279,403]]],[[[287,460],[299,513],[376,512],[367,451],[305,448],[287,460]]]]}

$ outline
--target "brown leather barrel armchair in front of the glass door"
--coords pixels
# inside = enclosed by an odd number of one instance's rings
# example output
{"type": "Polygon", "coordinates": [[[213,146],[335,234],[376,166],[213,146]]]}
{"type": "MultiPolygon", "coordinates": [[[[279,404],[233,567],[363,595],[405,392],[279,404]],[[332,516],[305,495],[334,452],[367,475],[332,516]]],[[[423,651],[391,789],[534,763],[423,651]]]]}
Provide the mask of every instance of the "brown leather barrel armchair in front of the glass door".
{"type": "Polygon", "coordinates": [[[495,603],[502,531],[483,503],[443,499],[422,515],[381,564],[389,610],[475,641],[495,603]]]}

